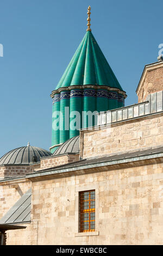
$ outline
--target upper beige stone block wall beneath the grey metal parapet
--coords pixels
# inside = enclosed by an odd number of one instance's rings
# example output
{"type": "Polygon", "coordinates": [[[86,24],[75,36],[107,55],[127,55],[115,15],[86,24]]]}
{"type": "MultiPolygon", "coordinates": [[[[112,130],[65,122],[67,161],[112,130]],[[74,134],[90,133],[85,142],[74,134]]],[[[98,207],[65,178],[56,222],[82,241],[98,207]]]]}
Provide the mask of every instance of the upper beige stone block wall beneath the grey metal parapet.
{"type": "Polygon", "coordinates": [[[111,124],[108,128],[80,131],[83,159],[163,145],[163,114],[111,124]]]}

